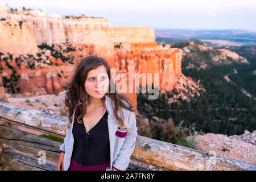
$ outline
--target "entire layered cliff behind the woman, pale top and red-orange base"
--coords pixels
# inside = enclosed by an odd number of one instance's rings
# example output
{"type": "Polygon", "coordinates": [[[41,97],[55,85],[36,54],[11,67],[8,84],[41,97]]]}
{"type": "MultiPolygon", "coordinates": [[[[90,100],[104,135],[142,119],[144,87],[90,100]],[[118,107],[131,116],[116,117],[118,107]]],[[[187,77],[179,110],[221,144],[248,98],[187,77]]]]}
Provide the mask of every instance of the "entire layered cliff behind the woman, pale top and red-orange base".
{"type": "MultiPolygon", "coordinates": [[[[75,66],[89,55],[104,57],[115,75],[124,73],[128,80],[133,79],[129,73],[146,78],[151,73],[152,83],[162,90],[171,91],[182,74],[179,49],[156,44],[152,28],[113,27],[104,18],[63,18],[37,10],[1,12],[0,66],[1,76],[10,78],[9,93],[15,86],[27,96],[42,88],[47,94],[61,92],[75,66]]],[[[126,93],[136,107],[133,90],[126,93]]]]}

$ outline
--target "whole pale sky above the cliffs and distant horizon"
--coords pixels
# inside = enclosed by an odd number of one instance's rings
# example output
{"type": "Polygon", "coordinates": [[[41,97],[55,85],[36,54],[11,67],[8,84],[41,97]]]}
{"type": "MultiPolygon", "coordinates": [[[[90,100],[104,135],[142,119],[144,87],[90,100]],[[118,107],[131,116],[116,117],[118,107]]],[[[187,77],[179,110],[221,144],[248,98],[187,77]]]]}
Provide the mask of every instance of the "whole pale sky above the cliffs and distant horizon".
{"type": "Polygon", "coordinates": [[[256,30],[256,0],[2,0],[0,6],[103,17],[113,26],[256,30]]]}

